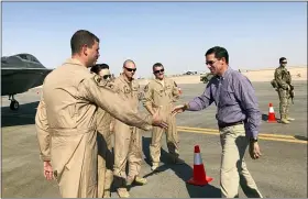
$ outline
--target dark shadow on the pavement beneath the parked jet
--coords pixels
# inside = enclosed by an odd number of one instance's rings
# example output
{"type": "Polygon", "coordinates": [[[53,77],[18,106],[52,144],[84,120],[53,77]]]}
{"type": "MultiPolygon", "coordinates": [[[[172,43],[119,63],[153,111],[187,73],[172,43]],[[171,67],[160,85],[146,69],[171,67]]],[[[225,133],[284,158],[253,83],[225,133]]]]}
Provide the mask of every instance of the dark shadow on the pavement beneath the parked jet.
{"type": "Polygon", "coordinates": [[[1,126],[26,125],[35,123],[35,114],[38,101],[20,104],[19,110],[13,111],[10,107],[1,108],[1,126]]]}

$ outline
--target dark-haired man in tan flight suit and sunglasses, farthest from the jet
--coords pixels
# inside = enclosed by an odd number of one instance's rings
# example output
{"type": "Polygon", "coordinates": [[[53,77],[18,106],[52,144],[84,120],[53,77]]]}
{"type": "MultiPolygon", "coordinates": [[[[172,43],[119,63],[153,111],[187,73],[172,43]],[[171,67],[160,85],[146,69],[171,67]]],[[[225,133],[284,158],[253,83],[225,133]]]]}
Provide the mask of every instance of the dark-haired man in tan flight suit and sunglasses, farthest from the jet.
{"type": "MultiPolygon", "coordinates": [[[[153,65],[154,80],[151,80],[144,87],[143,106],[151,114],[161,107],[160,114],[164,121],[167,121],[168,129],[166,132],[166,141],[173,163],[183,164],[184,161],[178,158],[178,134],[176,130],[176,120],[172,115],[173,102],[179,98],[179,90],[172,79],[164,77],[164,66],[161,63],[153,65]]],[[[152,170],[155,170],[160,165],[161,158],[161,141],[163,132],[162,128],[153,128],[152,142],[150,145],[150,154],[152,158],[152,170]]]]}

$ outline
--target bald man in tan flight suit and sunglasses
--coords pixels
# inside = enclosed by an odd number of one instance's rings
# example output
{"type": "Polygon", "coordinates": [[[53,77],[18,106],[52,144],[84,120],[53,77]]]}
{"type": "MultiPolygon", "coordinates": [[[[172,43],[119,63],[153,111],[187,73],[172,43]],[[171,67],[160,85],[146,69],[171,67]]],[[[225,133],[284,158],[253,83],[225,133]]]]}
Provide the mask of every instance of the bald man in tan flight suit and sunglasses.
{"type": "MultiPolygon", "coordinates": [[[[140,85],[134,80],[135,63],[128,59],[123,73],[114,80],[116,90],[127,101],[130,109],[138,111],[141,99],[140,85]]],[[[145,185],[146,179],[139,176],[142,164],[142,143],[140,130],[135,126],[114,120],[114,185],[120,198],[129,198],[127,186],[132,183],[145,185]],[[127,176],[125,168],[129,165],[127,176]]]]}

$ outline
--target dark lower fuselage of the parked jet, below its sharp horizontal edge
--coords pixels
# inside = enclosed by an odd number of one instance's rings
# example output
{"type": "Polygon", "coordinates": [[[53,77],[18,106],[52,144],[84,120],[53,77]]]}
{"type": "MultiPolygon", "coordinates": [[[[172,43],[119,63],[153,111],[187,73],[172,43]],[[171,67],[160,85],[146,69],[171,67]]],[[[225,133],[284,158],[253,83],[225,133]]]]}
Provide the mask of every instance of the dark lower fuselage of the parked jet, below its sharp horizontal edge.
{"type": "Polygon", "coordinates": [[[41,86],[52,70],[47,68],[1,68],[1,96],[22,93],[41,86]]]}

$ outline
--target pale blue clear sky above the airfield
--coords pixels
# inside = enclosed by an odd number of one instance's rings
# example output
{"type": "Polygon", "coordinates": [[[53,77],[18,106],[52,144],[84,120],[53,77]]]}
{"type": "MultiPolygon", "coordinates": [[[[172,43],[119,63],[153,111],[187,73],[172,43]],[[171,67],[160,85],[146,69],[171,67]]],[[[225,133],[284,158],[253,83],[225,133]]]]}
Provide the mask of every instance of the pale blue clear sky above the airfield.
{"type": "Polygon", "coordinates": [[[70,57],[79,29],[100,38],[100,58],[119,75],[136,63],[136,77],[208,71],[205,53],[223,46],[234,69],[307,65],[307,2],[2,2],[2,56],[33,54],[56,68],[70,57]]]}

